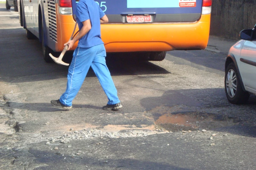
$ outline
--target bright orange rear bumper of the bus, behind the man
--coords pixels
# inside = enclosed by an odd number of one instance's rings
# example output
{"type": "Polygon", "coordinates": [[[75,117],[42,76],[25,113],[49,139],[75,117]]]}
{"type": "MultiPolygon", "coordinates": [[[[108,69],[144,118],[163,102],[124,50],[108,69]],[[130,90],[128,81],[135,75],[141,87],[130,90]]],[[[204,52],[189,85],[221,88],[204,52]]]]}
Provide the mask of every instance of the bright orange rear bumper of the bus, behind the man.
{"type": "MultiPolygon", "coordinates": [[[[101,37],[107,52],[205,49],[210,18],[211,14],[201,15],[200,20],[194,23],[103,24],[101,37]]],[[[61,28],[68,28],[60,31],[60,35],[64,35],[58,40],[60,51],[70,38],[66,35],[71,35],[73,26],[74,23],[60,22],[61,28]]],[[[77,43],[72,50],[76,46],[77,43]]]]}

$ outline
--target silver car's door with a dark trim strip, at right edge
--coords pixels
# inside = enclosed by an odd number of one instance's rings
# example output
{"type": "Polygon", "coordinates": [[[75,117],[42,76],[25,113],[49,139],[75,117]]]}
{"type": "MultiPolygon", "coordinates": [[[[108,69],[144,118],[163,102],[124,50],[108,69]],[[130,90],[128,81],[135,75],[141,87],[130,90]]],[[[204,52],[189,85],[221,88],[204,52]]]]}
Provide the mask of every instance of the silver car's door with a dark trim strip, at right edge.
{"type": "Polygon", "coordinates": [[[256,34],[246,41],[240,54],[240,73],[248,91],[256,92],[256,34]]]}

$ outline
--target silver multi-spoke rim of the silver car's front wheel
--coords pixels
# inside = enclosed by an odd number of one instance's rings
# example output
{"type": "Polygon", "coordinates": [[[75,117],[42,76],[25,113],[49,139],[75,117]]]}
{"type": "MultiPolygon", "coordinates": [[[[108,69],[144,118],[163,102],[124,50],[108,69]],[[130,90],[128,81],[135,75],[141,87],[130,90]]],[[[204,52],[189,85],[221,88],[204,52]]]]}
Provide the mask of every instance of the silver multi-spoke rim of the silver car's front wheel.
{"type": "Polygon", "coordinates": [[[226,89],[231,98],[235,97],[237,89],[237,78],[235,71],[230,69],[226,78],[226,89]]]}

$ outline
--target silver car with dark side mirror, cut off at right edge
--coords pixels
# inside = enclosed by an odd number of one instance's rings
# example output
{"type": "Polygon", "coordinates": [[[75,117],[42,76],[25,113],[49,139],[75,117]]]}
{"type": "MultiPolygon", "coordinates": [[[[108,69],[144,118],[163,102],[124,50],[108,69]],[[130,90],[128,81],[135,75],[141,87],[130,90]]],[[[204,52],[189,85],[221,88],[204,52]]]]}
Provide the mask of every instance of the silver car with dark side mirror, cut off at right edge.
{"type": "Polygon", "coordinates": [[[225,92],[230,103],[242,104],[256,94],[256,25],[242,30],[241,40],[230,50],[225,63],[225,92]]]}

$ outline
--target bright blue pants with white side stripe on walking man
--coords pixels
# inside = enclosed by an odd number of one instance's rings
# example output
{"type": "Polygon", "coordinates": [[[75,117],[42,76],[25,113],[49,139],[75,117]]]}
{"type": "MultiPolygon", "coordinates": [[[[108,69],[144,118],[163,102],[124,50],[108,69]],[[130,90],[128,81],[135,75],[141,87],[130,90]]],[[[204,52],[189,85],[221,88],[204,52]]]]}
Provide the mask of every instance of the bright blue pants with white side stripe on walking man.
{"type": "Polygon", "coordinates": [[[104,44],[90,48],[77,47],[68,69],[66,91],[60,96],[60,102],[65,106],[72,106],[72,101],[80,90],[90,66],[94,70],[109,101],[108,104],[119,103],[117,90],[106,65],[106,50],[104,44]]]}

